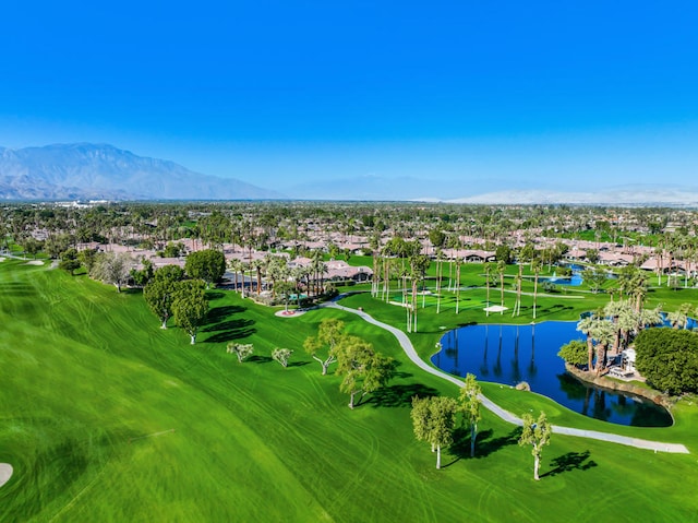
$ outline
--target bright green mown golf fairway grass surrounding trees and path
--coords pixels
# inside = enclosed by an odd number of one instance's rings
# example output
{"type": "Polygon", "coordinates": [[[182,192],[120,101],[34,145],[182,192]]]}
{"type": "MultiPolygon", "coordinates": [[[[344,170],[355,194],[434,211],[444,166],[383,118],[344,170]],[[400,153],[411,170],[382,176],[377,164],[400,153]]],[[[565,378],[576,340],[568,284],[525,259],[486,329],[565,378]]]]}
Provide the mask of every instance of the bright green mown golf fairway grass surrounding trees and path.
{"type": "MultiPolygon", "coordinates": [[[[422,373],[390,334],[338,310],[277,318],[232,292],[209,298],[209,321],[192,346],[173,325],[160,330],[139,293],[0,263],[0,463],[14,467],[0,488],[0,521],[698,520],[698,408],[688,401],[674,427],[639,429],[484,383],[516,414],[543,408],[558,425],[682,442],[693,453],[553,435],[534,482],[516,428],[484,413],[476,459],[464,438],[436,471],[429,445],[412,435],[410,399],[458,391],[422,373]],[[327,317],[400,364],[354,411],[334,368],[321,376],[302,349],[327,317]],[[253,357],[238,364],[226,353],[230,341],[253,343],[253,357]],[[270,360],[276,347],[294,350],[289,368],[270,360]]],[[[465,298],[480,305],[484,289],[465,298]]],[[[546,318],[575,319],[595,301],[542,297],[539,307],[546,318]]],[[[366,294],[345,304],[404,326],[401,307],[366,294]]],[[[422,314],[410,337],[423,358],[442,326],[484,320],[479,306],[461,305],[459,314],[444,302],[441,314],[422,314]]]]}

